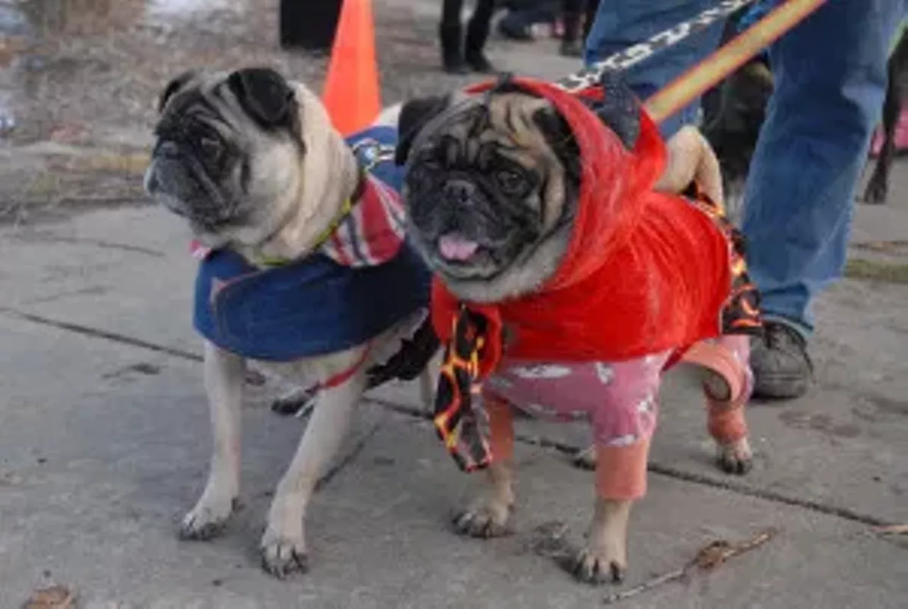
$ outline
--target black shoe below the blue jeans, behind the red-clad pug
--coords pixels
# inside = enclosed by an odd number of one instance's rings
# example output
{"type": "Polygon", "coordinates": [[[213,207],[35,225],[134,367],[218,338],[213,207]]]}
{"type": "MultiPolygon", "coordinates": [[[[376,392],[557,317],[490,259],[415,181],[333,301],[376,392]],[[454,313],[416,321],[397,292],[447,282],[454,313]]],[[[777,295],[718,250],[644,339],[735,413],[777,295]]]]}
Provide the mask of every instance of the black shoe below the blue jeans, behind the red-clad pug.
{"type": "Polygon", "coordinates": [[[754,397],[789,400],[801,397],[814,380],[807,341],[787,324],[767,321],[763,337],[751,341],[754,397]]]}

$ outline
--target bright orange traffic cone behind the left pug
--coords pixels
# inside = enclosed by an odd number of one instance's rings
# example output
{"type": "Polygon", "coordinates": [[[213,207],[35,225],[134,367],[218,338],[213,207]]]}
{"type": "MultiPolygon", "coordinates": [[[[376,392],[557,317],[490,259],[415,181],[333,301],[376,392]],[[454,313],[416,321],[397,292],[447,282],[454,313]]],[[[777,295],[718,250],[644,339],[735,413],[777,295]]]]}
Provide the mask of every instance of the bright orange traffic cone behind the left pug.
{"type": "Polygon", "coordinates": [[[343,0],[321,99],[343,135],[369,126],[381,112],[371,0],[343,0]]]}

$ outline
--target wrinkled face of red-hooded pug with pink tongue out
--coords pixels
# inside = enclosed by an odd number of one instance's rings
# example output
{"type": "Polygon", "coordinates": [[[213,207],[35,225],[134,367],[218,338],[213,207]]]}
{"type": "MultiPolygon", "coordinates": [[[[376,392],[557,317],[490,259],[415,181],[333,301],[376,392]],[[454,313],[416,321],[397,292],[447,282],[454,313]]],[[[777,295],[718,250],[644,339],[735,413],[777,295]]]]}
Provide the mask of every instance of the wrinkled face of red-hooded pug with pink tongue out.
{"type": "Polygon", "coordinates": [[[399,162],[414,244],[458,295],[528,293],[557,268],[579,155],[548,101],[513,90],[403,106],[399,162]]]}

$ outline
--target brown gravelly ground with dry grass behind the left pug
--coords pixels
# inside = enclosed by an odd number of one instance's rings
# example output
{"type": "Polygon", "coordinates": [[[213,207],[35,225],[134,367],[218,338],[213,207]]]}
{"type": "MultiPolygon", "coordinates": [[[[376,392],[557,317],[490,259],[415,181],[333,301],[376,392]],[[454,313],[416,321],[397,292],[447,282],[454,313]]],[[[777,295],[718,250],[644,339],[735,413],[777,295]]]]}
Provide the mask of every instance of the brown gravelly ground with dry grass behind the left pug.
{"type": "MultiPolygon", "coordinates": [[[[464,84],[442,74],[424,8],[374,6],[383,101],[464,84]]],[[[321,87],[327,58],[277,43],[276,0],[0,0],[0,222],[61,203],[141,198],[130,152],[163,85],[196,66],[272,65],[321,87]]]]}

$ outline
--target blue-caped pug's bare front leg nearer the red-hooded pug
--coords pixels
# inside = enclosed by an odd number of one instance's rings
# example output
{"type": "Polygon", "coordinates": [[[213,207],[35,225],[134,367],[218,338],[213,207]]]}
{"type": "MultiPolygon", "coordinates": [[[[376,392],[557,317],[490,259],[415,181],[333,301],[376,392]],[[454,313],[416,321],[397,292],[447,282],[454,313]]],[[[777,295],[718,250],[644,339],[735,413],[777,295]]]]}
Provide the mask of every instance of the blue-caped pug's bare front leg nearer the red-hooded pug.
{"type": "Polygon", "coordinates": [[[345,383],[319,393],[300,446],[274,494],[262,536],[262,568],[276,577],[308,569],[306,508],[325,465],[341,445],[365,387],[366,374],[361,370],[345,383]]]}

